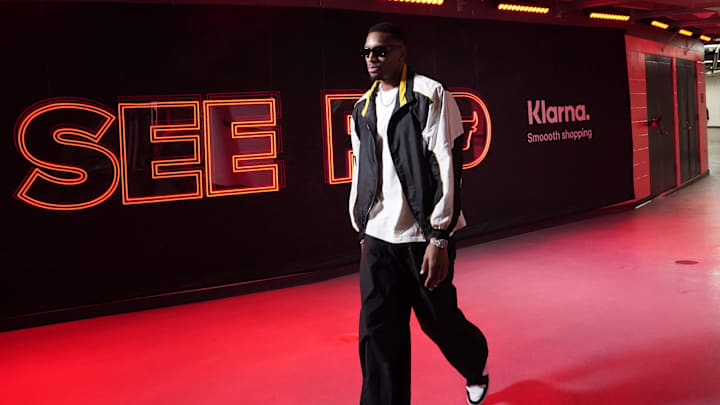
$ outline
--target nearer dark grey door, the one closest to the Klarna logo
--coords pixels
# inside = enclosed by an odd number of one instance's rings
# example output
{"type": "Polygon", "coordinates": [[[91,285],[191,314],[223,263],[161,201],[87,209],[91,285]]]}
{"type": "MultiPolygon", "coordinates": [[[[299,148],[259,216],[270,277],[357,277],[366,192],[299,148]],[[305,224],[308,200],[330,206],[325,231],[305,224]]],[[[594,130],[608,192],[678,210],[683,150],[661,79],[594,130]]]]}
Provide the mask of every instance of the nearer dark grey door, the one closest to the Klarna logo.
{"type": "Polygon", "coordinates": [[[645,55],[650,194],[656,196],[675,187],[675,114],[673,111],[672,60],[645,55]]]}

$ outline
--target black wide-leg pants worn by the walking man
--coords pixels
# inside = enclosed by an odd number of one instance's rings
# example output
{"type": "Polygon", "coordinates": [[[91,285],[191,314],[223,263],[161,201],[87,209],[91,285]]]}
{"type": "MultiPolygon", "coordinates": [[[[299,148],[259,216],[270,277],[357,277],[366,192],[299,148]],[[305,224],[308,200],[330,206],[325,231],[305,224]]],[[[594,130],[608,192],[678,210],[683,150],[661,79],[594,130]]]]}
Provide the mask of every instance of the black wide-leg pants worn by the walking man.
{"type": "Polygon", "coordinates": [[[457,306],[455,240],[449,242],[448,277],[430,291],[424,286],[427,274],[420,275],[427,243],[392,244],[365,236],[360,259],[361,405],[410,404],[410,308],[468,385],[480,383],[487,341],[457,306]]]}

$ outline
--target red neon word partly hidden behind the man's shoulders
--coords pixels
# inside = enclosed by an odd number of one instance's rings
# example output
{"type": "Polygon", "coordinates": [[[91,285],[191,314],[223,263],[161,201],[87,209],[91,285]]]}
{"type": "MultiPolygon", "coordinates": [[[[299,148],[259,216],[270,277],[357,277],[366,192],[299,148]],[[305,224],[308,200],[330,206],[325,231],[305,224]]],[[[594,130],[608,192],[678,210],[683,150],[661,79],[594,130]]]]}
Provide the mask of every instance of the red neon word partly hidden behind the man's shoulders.
{"type": "MultiPolygon", "coordinates": [[[[344,91],[323,95],[323,142],[325,157],[325,181],[343,184],[352,181],[352,147],[350,145],[350,118],[363,91],[344,91]],[[341,135],[338,135],[341,134],[341,135]],[[343,153],[344,152],[344,153],[343,153]],[[344,159],[340,158],[341,155],[344,159]]],[[[490,150],[492,124],[490,111],[485,102],[471,90],[452,92],[463,115],[465,146],[463,169],[476,167],[490,150]]]]}

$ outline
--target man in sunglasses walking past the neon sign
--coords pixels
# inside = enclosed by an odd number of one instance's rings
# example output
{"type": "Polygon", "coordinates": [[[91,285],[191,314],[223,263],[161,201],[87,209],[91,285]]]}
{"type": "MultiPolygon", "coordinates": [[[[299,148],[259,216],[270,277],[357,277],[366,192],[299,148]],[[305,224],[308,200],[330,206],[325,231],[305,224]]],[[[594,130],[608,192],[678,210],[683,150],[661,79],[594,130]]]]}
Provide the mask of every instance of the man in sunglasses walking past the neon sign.
{"type": "Polygon", "coordinates": [[[410,308],[467,380],[488,390],[488,348],[457,307],[453,232],[460,211],[463,126],[450,92],[409,70],[391,23],[370,28],[362,55],[370,90],[352,114],[350,219],[361,241],[361,405],[410,404],[410,308]]]}

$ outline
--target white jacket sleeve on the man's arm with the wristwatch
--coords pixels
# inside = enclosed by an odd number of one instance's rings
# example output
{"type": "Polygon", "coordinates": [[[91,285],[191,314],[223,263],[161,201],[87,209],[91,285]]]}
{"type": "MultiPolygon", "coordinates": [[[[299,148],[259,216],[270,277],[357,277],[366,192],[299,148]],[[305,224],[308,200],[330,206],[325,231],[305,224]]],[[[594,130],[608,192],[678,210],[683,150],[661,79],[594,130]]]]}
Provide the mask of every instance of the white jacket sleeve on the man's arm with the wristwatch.
{"type": "Polygon", "coordinates": [[[462,116],[457,103],[449,91],[439,87],[433,95],[423,131],[427,148],[438,164],[442,189],[442,195],[430,214],[430,236],[433,238],[449,238],[461,216],[462,134],[462,116]]]}

